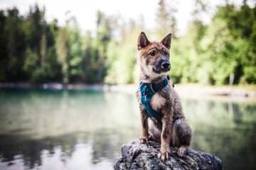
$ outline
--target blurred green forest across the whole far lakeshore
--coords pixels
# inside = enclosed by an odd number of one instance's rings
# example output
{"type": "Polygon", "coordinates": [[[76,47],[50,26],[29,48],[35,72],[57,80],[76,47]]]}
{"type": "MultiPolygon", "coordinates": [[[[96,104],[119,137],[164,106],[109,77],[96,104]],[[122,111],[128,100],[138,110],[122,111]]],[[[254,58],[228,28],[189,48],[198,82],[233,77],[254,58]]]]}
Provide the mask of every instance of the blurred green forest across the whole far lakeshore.
{"type": "Polygon", "coordinates": [[[256,6],[246,1],[218,6],[210,24],[201,19],[207,4],[196,1],[186,35],[176,36],[176,9],[159,1],[156,28],[145,30],[144,18],[124,21],[97,11],[96,30],[81,33],[75,17],[65,26],[46,21],[46,8],[31,6],[0,11],[0,82],[63,84],[137,84],[137,37],[149,40],[173,33],[171,79],[174,83],[225,85],[256,83],[256,6]]]}

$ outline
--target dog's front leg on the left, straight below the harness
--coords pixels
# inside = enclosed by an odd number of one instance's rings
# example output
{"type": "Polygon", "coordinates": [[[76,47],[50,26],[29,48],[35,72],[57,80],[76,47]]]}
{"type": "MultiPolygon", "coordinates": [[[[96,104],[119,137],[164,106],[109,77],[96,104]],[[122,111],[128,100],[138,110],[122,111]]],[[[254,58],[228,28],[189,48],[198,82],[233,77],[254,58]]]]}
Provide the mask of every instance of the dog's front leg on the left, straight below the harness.
{"type": "Polygon", "coordinates": [[[140,138],[140,143],[147,144],[149,139],[149,124],[148,118],[149,114],[146,112],[144,106],[140,107],[141,110],[141,118],[142,118],[142,137],[140,138]]]}

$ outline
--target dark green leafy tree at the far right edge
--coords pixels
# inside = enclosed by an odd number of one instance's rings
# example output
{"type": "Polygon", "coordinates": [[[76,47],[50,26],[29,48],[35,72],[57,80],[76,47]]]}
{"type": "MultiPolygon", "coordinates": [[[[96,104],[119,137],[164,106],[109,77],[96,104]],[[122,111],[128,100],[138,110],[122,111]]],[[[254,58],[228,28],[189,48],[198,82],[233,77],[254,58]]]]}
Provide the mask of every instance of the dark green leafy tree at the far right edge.
{"type": "MultiPolygon", "coordinates": [[[[219,8],[216,18],[221,18],[227,23],[230,35],[235,41],[244,42],[242,47],[235,46],[238,50],[244,50],[239,57],[238,68],[235,69],[235,82],[252,83],[256,80],[256,6],[250,8],[246,1],[240,10],[235,10],[231,4],[219,8]]],[[[241,44],[240,44],[241,45],[241,44]]]]}

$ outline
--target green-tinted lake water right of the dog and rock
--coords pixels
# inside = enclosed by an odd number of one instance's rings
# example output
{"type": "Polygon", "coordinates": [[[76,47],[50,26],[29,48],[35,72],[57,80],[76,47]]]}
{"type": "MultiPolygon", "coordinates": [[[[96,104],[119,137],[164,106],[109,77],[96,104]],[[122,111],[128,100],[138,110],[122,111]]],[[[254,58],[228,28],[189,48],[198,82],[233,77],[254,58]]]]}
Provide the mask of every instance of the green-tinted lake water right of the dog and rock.
{"type": "Polygon", "coordinates": [[[193,128],[191,148],[222,159],[225,169],[256,169],[255,101],[183,99],[193,128]]]}

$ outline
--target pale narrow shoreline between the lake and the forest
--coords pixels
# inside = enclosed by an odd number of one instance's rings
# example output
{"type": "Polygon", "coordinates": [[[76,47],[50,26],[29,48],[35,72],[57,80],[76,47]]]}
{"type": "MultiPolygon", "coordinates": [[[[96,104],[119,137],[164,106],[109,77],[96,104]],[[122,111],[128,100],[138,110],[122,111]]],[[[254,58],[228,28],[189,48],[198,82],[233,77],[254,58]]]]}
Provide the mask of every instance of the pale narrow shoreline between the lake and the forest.
{"type": "MultiPolygon", "coordinates": [[[[92,91],[118,91],[133,94],[138,86],[129,85],[107,85],[107,84],[30,84],[30,83],[0,83],[1,89],[48,89],[48,90],[92,90],[92,91]]],[[[256,99],[256,85],[250,85],[250,90],[245,86],[203,86],[200,84],[175,84],[174,89],[179,96],[230,96],[256,99]]]]}

